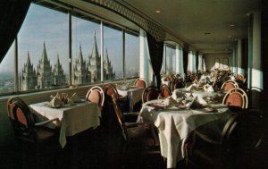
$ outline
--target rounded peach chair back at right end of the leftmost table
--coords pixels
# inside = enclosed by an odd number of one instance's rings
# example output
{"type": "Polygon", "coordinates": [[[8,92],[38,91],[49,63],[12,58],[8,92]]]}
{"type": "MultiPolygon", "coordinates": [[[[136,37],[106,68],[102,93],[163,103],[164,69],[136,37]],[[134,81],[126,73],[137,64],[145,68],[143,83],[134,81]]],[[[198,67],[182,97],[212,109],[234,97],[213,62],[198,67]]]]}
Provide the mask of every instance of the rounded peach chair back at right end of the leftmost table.
{"type": "Polygon", "coordinates": [[[101,87],[94,86],[88,90],[86,100],[96,103],[98,106],[102,107],[105,103],[105,92],[101,87]]]}

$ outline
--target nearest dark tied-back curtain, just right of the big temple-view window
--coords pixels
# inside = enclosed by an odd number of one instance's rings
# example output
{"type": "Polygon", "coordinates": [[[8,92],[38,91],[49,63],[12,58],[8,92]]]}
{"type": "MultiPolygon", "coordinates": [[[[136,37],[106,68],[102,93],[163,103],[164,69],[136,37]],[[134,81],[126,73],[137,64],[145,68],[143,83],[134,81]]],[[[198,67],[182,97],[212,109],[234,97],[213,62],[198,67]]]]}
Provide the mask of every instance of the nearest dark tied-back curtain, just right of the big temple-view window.
{"type": "Polygon", "coordinates": [[[157,88],[159,89],[161,84],[160,72],[163,63],[163,41],[157,42],[155,38],[147,32],[147,43],[157,88]]]}

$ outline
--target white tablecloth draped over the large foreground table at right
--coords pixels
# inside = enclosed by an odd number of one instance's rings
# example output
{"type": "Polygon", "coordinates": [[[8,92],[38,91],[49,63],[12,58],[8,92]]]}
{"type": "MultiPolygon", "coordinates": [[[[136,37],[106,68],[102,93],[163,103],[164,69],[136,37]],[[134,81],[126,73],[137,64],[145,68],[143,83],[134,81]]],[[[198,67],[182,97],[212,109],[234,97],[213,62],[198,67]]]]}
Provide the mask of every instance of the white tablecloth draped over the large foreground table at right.
{"type": "Polygon", "coordinates": [[[229,116],[228,107],[222,104],[214,105],[217,113],[204,113],[177,107],[156,110],[147,106],[154,102],[159,100],[144,104],[140,119],[145,122],[153,121],[158,128],[161,154],[167,158],[167,168],[176,168],[176,163],[184,157],[184,143],[191,131],[202,124],[229,116]]]}

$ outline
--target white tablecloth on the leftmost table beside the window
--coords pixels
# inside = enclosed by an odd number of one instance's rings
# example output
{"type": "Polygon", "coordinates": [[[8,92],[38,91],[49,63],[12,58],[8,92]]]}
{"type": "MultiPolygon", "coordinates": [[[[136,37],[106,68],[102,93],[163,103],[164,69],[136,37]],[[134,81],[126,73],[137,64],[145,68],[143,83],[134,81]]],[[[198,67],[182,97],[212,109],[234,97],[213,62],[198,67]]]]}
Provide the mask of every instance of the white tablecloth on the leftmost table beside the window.
{"type": "Polygon", "coordinates": [[[73,136],[80,131],[86,131],[91,127],[100,125],[101,111],[99,106],[88,101],[74,105],[64,105],[59,108],[46,106],[48,102],[29,105],[29,107],[43,118],[59,118],[61,132],[59,142],[62,148],[66,145],[66,136],[73,136]]]}

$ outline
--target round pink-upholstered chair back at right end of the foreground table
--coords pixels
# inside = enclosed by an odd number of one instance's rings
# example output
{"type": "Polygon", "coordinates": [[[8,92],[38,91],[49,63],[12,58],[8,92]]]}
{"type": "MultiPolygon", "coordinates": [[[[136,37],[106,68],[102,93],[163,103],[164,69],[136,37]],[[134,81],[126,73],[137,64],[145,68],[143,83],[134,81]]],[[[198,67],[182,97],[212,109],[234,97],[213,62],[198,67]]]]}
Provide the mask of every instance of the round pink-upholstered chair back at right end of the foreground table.
{"type": "Polygon", "coordinates": [[[227,106],[238,106],[247,108],[248,98],[247,93],[243,89],[230,89],[223,97],[222,104],[227,106]]]}

